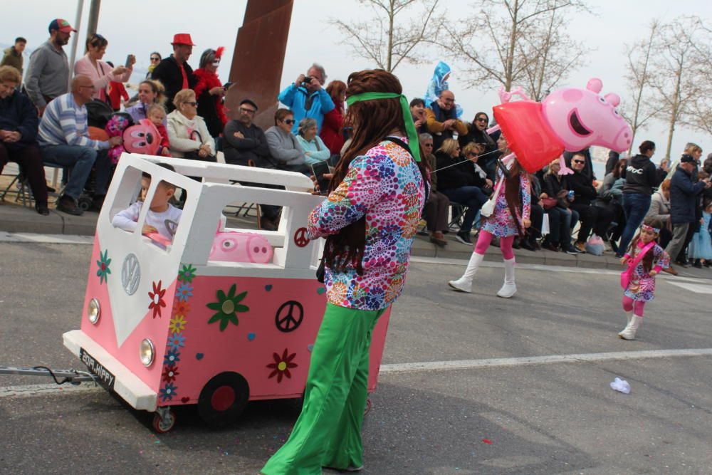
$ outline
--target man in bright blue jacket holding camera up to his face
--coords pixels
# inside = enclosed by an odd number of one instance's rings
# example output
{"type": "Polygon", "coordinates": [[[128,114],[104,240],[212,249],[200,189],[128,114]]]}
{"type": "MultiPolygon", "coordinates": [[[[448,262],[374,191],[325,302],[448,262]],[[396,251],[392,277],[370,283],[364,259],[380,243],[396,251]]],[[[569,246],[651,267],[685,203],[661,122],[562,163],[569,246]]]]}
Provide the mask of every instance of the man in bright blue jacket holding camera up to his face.
{"type": "Polygon", "coordinates": [[[288,85],[279,95],[279,102],[294,113],[292,133],[296,135],[299,122],[305,118],[316,120],[317,133],[321,132],[324,115],[335,108],[334,101],[322,87],[326,72],[318,64],[313,64],[307,75],[300,74],[295,82],[288,85]]]}

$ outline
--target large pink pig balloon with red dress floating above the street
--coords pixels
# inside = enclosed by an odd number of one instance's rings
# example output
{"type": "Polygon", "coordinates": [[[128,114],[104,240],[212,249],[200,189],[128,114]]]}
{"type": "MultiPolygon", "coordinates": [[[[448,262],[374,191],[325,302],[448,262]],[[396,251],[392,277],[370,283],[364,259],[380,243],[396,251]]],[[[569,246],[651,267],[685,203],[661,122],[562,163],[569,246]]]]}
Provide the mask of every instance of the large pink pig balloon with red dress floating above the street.
{"type": "Polygon", "coordinates": [[[528,172],[534,173],[560,157],[560,174],[573,173],[567,168],[562,153],[577,152],[600,145],[617,152],[628,150],[632,131],[616,109],[616,94],[601,96],[600,79],[593,78],[585,89],[555,90],[542,103],[530,100],[521,88],[500,90],[502,104],[493,108],[498,123],[487,132],[501,129],[512,154],[528,172]],[[514,95],[523,100],[510,102],[514,95]]]}

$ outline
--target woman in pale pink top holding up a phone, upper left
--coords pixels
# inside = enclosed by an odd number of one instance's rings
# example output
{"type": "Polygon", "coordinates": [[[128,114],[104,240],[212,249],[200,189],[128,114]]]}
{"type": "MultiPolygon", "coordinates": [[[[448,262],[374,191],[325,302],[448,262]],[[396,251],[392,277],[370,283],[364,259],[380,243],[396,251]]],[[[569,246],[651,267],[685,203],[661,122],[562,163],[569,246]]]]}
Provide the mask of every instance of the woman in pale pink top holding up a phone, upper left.
{"type": "Polygon", "coordinates": [[[116,81],[117,83],[127,82],[131,77],[131,73],[133,73],[133,65],[136,62],[136,58],[134,58],[133,55],[130,56],[130,64],[128,66],[116,66],[112,68],[105,61],[101,61],[101,58],[104,57],[104,53],[106,53],[108,44],[109,42],[106,38],[95,33],[87,39],[87,53],[85,56],[74,64],[75,76],[88,76],[94,83],[96,89],[92,98],[105,102],[108,102],[107,88],[109,83],[111,81],[116,81]]]}

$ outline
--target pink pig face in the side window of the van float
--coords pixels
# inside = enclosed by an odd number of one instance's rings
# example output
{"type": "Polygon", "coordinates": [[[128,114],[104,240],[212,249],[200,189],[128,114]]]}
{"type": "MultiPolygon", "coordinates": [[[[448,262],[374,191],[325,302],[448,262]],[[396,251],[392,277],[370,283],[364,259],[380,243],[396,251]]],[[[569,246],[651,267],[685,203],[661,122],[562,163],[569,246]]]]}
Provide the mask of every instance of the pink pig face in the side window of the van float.
{"type": "Polygon", "coordinates": [[[221,231],[215,235],[210,249],[210,261],[269,263],[273,249],[259,234],[221,231]]]}

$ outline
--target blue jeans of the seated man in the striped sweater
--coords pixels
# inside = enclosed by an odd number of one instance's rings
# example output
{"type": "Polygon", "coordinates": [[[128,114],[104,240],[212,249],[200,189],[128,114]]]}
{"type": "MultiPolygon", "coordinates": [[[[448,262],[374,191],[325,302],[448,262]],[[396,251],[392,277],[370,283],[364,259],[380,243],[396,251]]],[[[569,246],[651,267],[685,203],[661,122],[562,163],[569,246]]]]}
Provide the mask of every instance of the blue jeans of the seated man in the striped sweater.
{"type": "Polygon", "coordinates": [[[46,145],[41,147],[42,161],[46,165],[70,167],[69,180],[64,193],[78,199],[89,178],[91,169],[96,165],[95,196],[103,196],[109,185],[111,162],[107,150],[94,150],[78,145],[46,145]]]}

